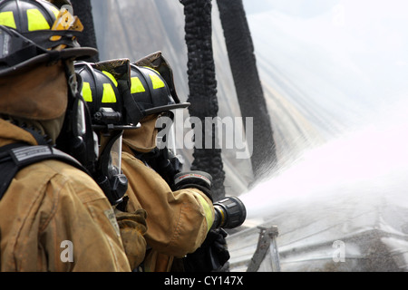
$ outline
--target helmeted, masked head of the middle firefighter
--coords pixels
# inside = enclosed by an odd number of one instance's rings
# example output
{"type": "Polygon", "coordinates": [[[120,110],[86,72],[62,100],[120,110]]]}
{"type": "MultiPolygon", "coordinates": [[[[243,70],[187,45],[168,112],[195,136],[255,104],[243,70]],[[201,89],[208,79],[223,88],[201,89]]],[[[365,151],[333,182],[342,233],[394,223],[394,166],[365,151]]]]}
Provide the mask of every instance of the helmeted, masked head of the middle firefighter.
{"type": "Polygon", "coordinates": [[[127,122],[123,116],[123,93],[118,85],[121,78],[118,72],[126,74],[129,61],[109,64],[81,62],[74,66],[75,72],[83,78],[81,92],[91,112],[92,130],[99,138],[94,179],[111,204],[117,205],[128,188],[128,179],[121,172],[122,134],[125,129],[136,129],[140,124],[127,122]]]}

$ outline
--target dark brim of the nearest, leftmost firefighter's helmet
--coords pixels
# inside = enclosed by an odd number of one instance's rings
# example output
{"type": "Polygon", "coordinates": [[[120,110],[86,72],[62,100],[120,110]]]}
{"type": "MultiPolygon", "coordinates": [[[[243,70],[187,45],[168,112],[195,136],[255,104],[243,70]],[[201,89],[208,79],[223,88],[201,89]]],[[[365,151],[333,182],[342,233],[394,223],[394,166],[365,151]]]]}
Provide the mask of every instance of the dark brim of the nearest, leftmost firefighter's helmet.
{"type": "Polygon", "coordinates": [[[81,60],[91,57],[98,53],[98,50],[92,47],[73,47],[65,48],[61,51],[50,51],[49,53],[39,54],[22,63],[12,67],[0,69],[0,77],[5,75],[14,75],[29,71],[34,65],[39,63],[53,63],[60,60],[81,60]]]}

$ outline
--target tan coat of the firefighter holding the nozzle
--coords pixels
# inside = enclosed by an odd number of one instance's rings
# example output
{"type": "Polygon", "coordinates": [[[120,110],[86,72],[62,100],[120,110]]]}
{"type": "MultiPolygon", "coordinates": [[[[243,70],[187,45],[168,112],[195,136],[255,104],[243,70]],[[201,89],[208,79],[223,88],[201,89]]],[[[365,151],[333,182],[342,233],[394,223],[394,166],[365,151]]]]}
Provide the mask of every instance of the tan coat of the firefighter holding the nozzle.
{"type": "Polygon", "coordinates": [[[207,237],[214,220],[211,200],[199,189],[171,191],[153,169],[123,144],[121,169],[128,178],[127,211],[147,211],[147,272],[170,271],[174,257],[194,252],[207,237]]]}

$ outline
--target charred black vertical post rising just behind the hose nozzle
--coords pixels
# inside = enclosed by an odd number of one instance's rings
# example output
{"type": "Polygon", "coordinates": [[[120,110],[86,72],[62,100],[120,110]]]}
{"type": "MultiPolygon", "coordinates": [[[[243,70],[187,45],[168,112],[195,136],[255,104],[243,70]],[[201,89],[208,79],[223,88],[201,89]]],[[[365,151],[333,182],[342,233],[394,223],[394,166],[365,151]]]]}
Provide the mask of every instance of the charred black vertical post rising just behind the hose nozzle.
{"type": "MultiPolygon", "coordinates": [[[[206,126],[205,118],[218,115],[217,81],[212,51],[211,0],[180,0],[184,5],[185,40],[188,48],[189,75],[189,115],[198,117],[202,123],[201,131],[195,130],[196,143],[193,152],[192,170],[209,172],[213,178],[213,198],[225,196],[225,172],[221,150],[217,149],[216,124],[206,126]],[[198,140],[200,143],[198,144],[198,140]],[[207,140],[207,141],[206,141],[207,140]],[[208,146],[211,140],[212,146],[208,146]],[[206,146],[207,144],[207,146],[206,146]],[[206,148],[207,147],[207,148],[206,148]]],[[[197,128],[196,128],[197,129],[197,128]]]]}

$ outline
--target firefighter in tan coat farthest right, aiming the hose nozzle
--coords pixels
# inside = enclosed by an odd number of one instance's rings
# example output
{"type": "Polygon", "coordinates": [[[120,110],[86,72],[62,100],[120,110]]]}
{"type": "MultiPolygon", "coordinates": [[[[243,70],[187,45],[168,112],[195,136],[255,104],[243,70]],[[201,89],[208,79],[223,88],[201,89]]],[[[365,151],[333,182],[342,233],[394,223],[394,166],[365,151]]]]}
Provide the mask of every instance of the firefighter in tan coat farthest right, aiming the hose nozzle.
{"type": "Polygon", "coordinates": [[[130,93],[138,105],[133,113],[142,118],[140,129],[123,133],[121,168],[129,179],[126,211],[147,211],[143,270],[173,271],[174,259],[199,248],[213,224],[211,177],[201,172],[199,179],[185,179],[181,186],[174,183],[179,163],[161,170],[170,151],[157,147],[156,122],[160,117],[172,119],[171,110],[187,108],[189,103],[180,102],[170,66],[160,52],[131,63],[130,93]]]}

